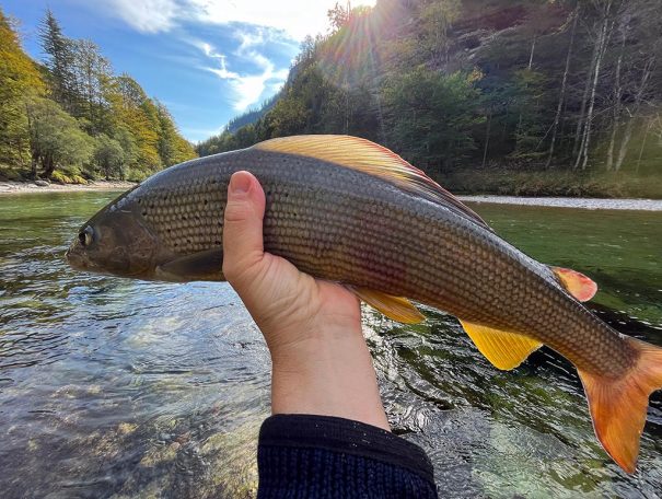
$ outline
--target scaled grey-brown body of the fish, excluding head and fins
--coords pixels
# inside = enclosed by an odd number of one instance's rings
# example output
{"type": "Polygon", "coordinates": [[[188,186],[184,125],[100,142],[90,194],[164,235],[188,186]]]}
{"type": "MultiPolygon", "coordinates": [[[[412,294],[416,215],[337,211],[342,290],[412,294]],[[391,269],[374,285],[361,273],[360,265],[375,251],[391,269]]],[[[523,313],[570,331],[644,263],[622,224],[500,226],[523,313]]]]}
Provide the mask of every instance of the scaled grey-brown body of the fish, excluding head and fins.
{"type": "MultiPolygon", "coordinates": [[[[468,321],[527,332],[576,364],[590,365],[611,375],[618,375],[630,367],[628,358],[618,361],[624,356],[616,355],[605,363],[592,353],[593,349],[581,356],[572,352],[578,347],[578,334],[604,346],[611,343],[613,332],[606,324],[597,323],[605,343],[594,333],[596,321],[584,314],[579,315],[576,324],[564,320],[550,324],[545,311],[564,306],[569,310],[560,314],[561,317],[574,316],[574,309],[582,305],[568,300],[555,283],[531,279],[530,275],[536,274],[536,265],[533,268],[519,265],[525,258],[516,251],[498,247],[492,241],[497,239],[493,234],[476,231],[469,220],[440,211],[429,201],[361,172],[333,164],[320,172],[312,160],[295,158],[286,162],[275,155],[280,154],[245,151],[241,156],[214,159],[211,169],[198,163],[202,166],[200,175],[219,179],[214,184],[191,182],[197,172],[163,177],[163,182],[155,182],[153,186],[147,184],[140,192],[141,205],[149,207],[146,219],[153,220],[154,232],[176,254],[212,248],[214,245],[207,234],[217,234],[216,246],[220,247],[222,231],[218,224],[222,210],[213,208],[224,206],[227,193],[222,186],[230,175],[251,170],[263,183],[267,197],[265,248],[290,259],[301,270],[352,286],[378,287],[468,321]],[[328,174],[326,170],[336,172],[328,174]],[[306,188],[303,178],[316,188],[306,188]],[[367,185],[371,188],[370,199],[363,194],[367,185]],[[214,188],[210,188],[212,186],[214,188]],[[178,204],[174,224],[172,204],[163,200],[163,193],[167,192],[174,193],[171,196],[178,204]],[[205,196],[213,202],[206,205],[205,196]],[[330,209],[321,210],[320,206],[330,209]],[[191,217],[184,214],[194,211],[199,213],[200,230],[191,217]],[[375,212],[382,213],[378,221],[375,212]],[[329,222],[329,217],[334,222],[329,222]],[[364,221],[371,221],[369,230],[364,221]],[[402,244],[406,241],[409,244],[402,244]],[[373,257],[367,259],[367,254],[373,257]],[[403,267],[406,272],[402,271],[403,267]],[[539,289],[534,291],[532,287],[539,289]],[[495,310],[509,313],[495,314],[495,310]],[[511,313],[514,310],[516,314],[511,313]],[[591,334],[582,335],[585,330],[591,334]]],[[[618,347],[615,345],[614,350],[623,350],[618,347]]]]}

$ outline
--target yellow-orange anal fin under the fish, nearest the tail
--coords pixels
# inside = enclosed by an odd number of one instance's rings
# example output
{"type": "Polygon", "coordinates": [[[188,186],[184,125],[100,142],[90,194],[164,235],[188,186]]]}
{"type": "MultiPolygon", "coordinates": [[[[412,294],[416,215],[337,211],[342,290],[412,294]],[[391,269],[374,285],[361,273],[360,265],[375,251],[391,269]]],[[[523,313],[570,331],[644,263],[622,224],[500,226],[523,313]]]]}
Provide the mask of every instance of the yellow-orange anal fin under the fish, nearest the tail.
{"type": "Polygon", "coordinates": [[[480,353],[496,368],[510,371],[543,346],[541,341],[515,333],[460,321],[480,353]]]}

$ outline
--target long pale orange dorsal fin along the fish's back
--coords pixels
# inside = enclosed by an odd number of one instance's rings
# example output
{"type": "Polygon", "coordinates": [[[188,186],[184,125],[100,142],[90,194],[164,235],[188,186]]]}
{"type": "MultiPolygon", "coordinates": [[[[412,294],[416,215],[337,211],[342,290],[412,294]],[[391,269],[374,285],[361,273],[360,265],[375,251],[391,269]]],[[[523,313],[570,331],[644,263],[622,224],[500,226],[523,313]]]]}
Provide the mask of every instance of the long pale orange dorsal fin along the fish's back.
{"type": "Polygon", "coordinates": [[[254,148],[315,158],[378,176],[409,193],[440,204],[491,231],[474,210],[425,172],[413,166],[395,152],[370,140],[351,136],[309,135],[271,139],[257,143],[254,148]]]}

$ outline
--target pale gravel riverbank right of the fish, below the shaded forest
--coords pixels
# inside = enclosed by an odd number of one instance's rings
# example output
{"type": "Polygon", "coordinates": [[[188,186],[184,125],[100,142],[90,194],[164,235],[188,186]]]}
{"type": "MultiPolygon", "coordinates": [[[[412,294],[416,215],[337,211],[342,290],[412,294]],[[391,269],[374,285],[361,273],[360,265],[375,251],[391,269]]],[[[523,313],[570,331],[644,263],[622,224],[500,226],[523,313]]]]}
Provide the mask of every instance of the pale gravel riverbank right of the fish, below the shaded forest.
{"type": "Polygon", "coordinates": [[[567,197],[518,197],[518,196],[457,196],[466,202],[493,205],[545,206],[555,208],[580,208],[586,210],[636,210],[662,211],[662,199],[597,199],[567,197]]]}

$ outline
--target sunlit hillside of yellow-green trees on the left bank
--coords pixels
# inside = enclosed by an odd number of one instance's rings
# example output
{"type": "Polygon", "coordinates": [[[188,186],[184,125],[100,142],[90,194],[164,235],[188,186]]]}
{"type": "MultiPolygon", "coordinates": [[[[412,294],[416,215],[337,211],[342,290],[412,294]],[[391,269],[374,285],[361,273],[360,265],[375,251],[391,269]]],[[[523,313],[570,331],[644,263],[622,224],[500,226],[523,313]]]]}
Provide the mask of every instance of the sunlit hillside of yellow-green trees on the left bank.
{"type": "Polygon", "coordinates": [[[166,107],[50,11],[32,60],[0,11],[0,179],[137,181],[196,155],[166,107]]]}

